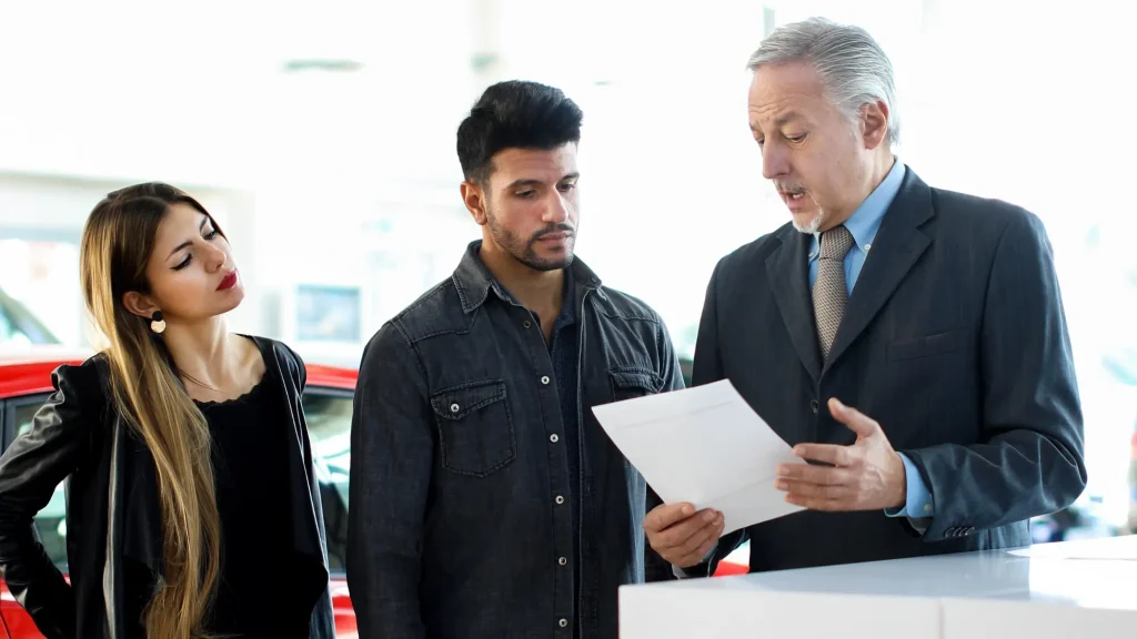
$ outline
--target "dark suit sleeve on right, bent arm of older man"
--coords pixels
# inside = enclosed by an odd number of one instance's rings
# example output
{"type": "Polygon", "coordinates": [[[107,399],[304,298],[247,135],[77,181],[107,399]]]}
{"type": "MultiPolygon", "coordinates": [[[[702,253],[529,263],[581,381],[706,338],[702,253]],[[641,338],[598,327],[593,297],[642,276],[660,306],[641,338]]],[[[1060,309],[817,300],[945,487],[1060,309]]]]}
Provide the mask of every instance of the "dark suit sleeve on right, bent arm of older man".
{"type": "Polygon", "coordinates": [[[1026,211],[995,250],[980,348],[981,443],[905,451],[932,495],[927,541],[1069,506],[1086,487],[1082,417],[1054,259],[1026,211]]]}

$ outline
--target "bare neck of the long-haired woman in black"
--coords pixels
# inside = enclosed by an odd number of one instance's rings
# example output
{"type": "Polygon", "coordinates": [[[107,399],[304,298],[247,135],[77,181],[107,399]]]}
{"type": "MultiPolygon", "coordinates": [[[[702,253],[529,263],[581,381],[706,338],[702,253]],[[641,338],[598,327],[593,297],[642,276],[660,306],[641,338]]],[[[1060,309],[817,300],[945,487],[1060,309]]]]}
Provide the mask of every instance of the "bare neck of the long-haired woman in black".
{"type": "Polygon", "coordinates": [[[163,333],[174,366],[214,388],[232,382],[238,373],[241,352],[233,337],[222,316],[196,324],[169,325],[163,333]]]}

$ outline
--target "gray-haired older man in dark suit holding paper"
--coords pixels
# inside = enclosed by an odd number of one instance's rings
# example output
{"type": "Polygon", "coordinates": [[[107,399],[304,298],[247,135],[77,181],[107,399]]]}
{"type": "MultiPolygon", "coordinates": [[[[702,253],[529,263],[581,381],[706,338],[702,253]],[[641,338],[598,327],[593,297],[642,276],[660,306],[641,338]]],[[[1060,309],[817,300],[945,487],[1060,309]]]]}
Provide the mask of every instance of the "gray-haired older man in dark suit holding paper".
{"type": "Polygon", "coordinates": [[[749,66],[792,221],[716,266],[694,383],[730,380],[811,462],[777,479],[807,509],[720,539],[720,513],[659,506],[652,546],[698,576],[747,539],[754,572],[1030,543],[1086,486],[1043,224],[893,155],[893,69],[863,30],[790,24],[749,66]]]}

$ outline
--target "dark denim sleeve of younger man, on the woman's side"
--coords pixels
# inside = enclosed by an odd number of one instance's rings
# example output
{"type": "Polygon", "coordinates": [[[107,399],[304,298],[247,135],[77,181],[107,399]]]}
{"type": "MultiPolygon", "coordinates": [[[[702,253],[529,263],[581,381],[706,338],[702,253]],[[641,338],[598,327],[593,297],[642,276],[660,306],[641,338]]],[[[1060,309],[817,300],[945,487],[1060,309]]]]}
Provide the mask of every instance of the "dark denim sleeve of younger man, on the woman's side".
{"type": "Polygon", "coordinates": [[[359,636],[421,639],[433,416],[425,374],[395,324],[364,351],[352,410],[347,578],[359,636]]]}

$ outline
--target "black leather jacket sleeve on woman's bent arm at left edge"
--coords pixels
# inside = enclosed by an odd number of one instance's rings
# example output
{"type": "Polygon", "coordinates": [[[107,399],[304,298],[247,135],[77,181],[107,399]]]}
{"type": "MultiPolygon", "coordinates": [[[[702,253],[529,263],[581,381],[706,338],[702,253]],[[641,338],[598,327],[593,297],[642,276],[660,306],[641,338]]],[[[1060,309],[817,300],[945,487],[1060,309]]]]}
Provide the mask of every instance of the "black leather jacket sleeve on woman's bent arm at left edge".
{"type": "Polygon", "coordinates": [[[81,367],[51,375],[55,392],[30,431],[0,457],[0,574],[35,625],[51,639],[75,637],[75,598],[35,533],[33,517],[56,487],[90,451],[92,410],[84,409],[74,377],[81,367]]]}

